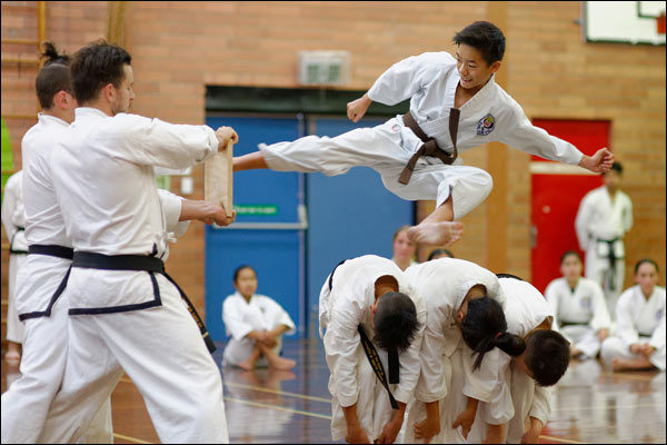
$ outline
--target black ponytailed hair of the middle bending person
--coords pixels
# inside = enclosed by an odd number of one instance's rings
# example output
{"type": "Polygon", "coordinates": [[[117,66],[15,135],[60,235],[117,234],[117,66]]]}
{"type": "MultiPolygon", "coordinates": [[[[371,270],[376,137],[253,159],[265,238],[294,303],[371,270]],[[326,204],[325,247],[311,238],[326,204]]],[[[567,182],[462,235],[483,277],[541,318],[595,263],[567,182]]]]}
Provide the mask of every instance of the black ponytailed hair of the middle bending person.
{"type": "Polygon", "coordinates": [[[496,346],[510,356],[521,355],[526,349],[521,337],[507,332],[502,307],[490,297],[468,301],[468,312],[461,323],[461,337],[477,353],[474,369],[481,365],[484,355],[496,346]]]}

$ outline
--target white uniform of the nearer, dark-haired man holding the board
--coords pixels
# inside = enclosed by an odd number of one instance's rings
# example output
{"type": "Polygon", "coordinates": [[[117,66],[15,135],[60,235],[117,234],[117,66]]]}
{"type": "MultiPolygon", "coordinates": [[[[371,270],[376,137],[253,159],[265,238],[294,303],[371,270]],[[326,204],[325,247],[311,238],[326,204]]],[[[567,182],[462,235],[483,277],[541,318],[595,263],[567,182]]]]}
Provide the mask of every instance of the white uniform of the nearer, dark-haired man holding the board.
{"type": "MultiPolygon", "coordinates": [[[[169,234],[153,166],[185,168],[217,147],[215,131],[206,126],[78,108],[51,156],[74,251],[163,258],[169,234]]],[[[107,313],[69,317],[62,388],[44,426],[49,437],[76,441],[79,426],[89,423],[125,369],[160,441],[229,441],[219,369],[177,288],[162,274],[72,267],[64,294],[70,312],[107,313]]]]}

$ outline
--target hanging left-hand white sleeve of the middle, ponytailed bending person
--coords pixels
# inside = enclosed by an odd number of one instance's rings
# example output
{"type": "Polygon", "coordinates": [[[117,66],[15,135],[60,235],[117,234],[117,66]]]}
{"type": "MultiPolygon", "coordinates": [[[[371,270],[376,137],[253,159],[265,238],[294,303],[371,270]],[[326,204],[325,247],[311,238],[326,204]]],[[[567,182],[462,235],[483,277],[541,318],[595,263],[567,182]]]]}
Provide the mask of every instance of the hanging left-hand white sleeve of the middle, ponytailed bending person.
{"type": "Polygon", "coordinates": [[[415,397],[425,403],[439,400],[449,394],[445,378],[444,320],[438,310],[431,310],[426,319],[420,354],[421,374],[415,393],[415,397]]]}

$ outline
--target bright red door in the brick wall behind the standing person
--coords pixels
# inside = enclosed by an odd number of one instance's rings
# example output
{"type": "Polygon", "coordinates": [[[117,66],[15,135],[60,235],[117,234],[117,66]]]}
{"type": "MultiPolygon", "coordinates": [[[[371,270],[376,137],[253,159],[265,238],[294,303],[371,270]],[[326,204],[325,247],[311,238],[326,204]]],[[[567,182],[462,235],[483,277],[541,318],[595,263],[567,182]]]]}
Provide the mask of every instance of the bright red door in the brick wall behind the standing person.
{"type": "MultiPolygon", "coordinates": [[[[536,127],[574,144],[585,155],[609,147],[608,120],[535,119],[536,127]]],[[[610,147],[609,147],[610,148],[610,147]]],[[[599,175],[560,162],[531,157],[531,275],[540,291],[560,277],[560,255],[579,250],[575,233],[575,217],[584,195],[603,185],[599,175]]]]}

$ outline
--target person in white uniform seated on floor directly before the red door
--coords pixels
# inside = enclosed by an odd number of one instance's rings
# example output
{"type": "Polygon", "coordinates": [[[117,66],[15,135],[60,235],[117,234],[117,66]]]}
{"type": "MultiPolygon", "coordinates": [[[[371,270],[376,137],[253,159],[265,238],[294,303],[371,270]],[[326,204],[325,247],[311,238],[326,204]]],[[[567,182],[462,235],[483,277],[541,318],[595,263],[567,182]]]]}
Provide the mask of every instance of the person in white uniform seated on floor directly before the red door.
{"type": "Polygon", "coordinates": [[[560,333],[570,342],[573,358],[595,358],[609,336],[611,319],[600,286],[581,277],[581,257],[568,250],[560,257],[560,273],[547,286],[545,298],[560,333]]]}

